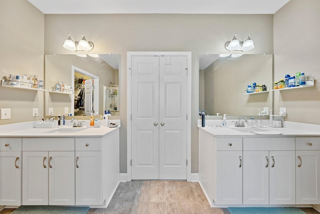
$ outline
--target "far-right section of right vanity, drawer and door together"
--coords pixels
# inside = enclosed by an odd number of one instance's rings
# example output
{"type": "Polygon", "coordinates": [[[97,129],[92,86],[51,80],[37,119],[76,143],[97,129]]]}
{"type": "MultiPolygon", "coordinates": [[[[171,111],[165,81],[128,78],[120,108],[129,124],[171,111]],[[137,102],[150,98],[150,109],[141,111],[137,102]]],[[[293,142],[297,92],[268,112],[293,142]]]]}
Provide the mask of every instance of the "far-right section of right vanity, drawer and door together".
{"type": "Polygon", "coordinates": [[[320,138],[295,138],[296,204],[320,204],[320,138]]]}

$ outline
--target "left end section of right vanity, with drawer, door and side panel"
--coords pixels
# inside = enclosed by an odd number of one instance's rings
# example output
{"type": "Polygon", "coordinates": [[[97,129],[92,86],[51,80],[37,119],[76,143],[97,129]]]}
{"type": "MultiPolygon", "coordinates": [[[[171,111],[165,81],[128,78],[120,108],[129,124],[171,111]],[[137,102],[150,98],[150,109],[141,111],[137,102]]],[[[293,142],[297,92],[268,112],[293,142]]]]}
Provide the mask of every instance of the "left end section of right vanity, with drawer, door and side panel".
{"type": "Polygon", "coordinates": [[[199,183],[211,204],[242,204],[242,139],[199,129],[199,183]]]}

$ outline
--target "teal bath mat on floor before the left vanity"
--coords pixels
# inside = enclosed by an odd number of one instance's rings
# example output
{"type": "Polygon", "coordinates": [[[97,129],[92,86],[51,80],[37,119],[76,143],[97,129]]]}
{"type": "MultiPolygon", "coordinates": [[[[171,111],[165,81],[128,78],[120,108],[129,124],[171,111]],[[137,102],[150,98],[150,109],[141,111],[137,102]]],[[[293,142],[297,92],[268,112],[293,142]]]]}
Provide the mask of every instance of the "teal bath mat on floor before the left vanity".
{"type": "Polygon", "coordinates": [[[86,214],[88,206],[19,206],[13,214],[86,214]]]}

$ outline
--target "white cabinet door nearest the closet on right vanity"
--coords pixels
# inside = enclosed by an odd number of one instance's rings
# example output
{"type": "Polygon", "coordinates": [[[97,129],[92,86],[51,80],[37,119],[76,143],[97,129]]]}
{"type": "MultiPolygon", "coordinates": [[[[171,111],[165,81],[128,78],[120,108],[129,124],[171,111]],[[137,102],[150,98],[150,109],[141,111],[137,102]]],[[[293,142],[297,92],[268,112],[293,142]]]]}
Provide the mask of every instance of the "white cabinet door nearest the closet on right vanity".
{"type": "Polygon", "coordinates": [[[217,152],[216,204],[242,204],[242,151],[217,152]]]}

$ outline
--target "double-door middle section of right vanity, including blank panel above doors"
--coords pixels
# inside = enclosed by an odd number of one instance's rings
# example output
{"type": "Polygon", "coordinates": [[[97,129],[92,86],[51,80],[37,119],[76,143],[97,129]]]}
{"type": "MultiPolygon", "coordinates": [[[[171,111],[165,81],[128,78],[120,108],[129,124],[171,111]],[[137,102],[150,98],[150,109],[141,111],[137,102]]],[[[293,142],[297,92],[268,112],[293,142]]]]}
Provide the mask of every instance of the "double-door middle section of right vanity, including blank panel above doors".
{"type": "Polygon", "coordinates": [[[292,137],[243,138],[243,204],[295,204],[292,137]]]}

